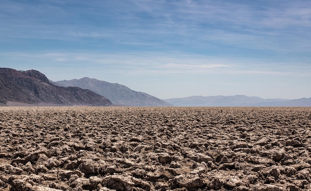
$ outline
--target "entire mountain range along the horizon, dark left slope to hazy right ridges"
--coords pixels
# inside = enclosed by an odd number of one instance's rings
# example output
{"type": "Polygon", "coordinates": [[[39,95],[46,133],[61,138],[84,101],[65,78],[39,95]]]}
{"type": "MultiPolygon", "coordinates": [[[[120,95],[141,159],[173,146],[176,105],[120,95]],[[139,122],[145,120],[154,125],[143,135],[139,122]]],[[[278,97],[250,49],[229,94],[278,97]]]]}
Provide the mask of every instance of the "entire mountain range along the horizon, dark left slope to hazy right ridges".
{"type": "Polygon", "coordinates": [[[4,106],[197,106],[311,107],[311,98],[262,99],[245,95],[190,96],[160,100],[94,78],[52,82],[37,70],[0,68],[0,105],[4,106]]]}

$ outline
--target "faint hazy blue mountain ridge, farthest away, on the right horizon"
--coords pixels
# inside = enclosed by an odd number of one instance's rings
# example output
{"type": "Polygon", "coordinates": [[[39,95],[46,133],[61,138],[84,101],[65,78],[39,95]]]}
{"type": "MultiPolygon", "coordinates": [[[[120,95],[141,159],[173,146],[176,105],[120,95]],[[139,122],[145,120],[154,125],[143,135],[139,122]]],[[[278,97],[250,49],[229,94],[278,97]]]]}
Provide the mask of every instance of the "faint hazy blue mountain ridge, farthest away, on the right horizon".
{"type": "Polygon", "coordinates": [[[295,100],[285,99],[263,99],[260,97],[249,97],[245,95],[234,96],[190,96],[184,98],[163,99],[174,106],[197,106],[197,107],[310,107],[311,98],[301,98],[295,100]]]}

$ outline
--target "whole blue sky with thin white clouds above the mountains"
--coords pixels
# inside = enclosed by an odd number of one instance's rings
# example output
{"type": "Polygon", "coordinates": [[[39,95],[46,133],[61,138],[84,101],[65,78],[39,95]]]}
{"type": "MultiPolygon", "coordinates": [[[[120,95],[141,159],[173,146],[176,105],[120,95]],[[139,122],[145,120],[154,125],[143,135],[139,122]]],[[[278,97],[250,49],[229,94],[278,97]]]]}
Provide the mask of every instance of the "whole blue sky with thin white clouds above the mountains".
{"type": "Polygon", "coordinates": [[[1,0],[0,67],[160,99],[311,97],[310,0],[1,0]]]}

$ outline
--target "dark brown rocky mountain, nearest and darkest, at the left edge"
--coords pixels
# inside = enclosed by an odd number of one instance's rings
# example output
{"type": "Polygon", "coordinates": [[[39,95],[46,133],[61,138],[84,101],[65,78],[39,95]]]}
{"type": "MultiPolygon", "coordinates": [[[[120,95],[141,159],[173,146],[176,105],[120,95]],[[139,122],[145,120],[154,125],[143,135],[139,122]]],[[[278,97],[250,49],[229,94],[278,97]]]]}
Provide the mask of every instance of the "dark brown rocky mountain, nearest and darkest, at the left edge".
{"type": "Polygon", "coordinates": [[[0,103],[109,106],[105,97],[78,87],[60,87],[36,70],[0,68],[0,103]]]}

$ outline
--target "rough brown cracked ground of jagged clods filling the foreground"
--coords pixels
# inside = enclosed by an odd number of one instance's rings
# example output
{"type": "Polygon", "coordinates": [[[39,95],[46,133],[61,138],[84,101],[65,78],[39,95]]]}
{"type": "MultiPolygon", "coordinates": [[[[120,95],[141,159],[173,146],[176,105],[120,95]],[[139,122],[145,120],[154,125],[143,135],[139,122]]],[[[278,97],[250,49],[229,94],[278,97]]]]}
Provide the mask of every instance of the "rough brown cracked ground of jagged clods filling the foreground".
{"type": "Polygon", "coordinates": [[[310,191],[311,108],[0,108],[1,191],[310,191]]]}

